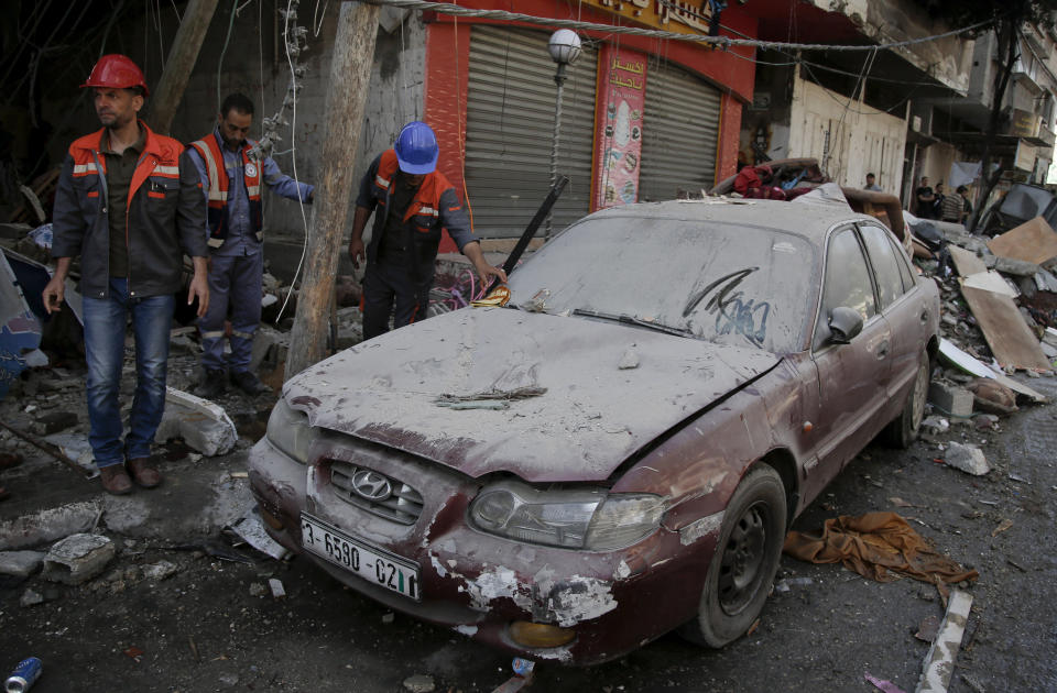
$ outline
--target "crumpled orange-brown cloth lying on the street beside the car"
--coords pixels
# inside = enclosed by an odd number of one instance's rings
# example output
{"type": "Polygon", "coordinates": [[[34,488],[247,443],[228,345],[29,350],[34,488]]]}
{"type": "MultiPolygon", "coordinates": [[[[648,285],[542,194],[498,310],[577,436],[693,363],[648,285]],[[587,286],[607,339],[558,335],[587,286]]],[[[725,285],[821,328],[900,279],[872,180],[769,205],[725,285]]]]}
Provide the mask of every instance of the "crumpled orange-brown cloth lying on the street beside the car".
{"type": "Polygon", "coordinates": [[[841,515],[826,520],[821,537],[791,531],[783,550],[810,563],[842,563],[848,570],[878,582],[892,582],[907,575],[939,586],[980,576],[977,571],[967,571],[937,553],[896,513],[841,515]]]}

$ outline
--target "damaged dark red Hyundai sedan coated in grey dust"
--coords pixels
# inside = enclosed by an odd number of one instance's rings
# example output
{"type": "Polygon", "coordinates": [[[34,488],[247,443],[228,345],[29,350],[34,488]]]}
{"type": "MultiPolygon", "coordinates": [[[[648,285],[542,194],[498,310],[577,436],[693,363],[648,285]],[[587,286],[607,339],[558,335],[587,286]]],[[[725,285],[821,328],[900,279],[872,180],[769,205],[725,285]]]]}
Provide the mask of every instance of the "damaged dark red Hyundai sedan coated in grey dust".
{"type": "Polygon", "coordinates": [[[740,637],[791,520],[879,433],[915,438],[938,345],[935,285],[832,197],[600,211],[505,307],[307,369],[251,453],[272,537],[534,660],[740,637]]]}

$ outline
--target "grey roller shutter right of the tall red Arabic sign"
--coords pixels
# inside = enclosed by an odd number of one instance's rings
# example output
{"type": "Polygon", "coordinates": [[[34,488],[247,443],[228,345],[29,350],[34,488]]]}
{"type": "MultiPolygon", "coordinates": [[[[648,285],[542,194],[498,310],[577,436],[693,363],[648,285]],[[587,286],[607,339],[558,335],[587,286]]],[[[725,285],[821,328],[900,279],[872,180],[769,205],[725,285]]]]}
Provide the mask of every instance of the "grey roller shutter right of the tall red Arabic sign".
{"type": "Polygon", "coordinates": [[[675,65],[650,64],[639,201],[699,196],[716,178],[721,95],[675,65]]]}

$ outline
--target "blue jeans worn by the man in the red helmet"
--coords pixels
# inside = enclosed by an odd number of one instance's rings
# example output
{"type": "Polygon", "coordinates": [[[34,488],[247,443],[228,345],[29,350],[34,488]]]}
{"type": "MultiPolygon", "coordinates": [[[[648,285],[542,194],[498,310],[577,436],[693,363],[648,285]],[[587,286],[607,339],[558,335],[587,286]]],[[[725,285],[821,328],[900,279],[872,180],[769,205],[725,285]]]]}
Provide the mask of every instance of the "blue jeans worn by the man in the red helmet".
{"type": "Polygon", "coordinates": [[[108,298],[84,297],[85,358],[88,361],[88,442],[102,469],[151,454],[151,443],[165,409],[168,332],[175,298],[130,298],[128,280],[110,277],[108,298]],[[121,366],[129,314],[135,336],[135,396],[129,417],[129,436],[121,444],[121,366]]]}

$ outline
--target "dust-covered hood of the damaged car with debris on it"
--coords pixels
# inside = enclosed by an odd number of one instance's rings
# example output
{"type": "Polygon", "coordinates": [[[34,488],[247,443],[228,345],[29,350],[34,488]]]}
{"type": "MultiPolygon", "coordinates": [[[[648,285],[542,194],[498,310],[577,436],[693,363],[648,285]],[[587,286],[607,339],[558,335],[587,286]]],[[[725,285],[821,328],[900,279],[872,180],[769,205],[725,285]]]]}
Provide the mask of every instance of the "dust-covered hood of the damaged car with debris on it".
{"type": "Polygon", "coordinates": [[[475,308],[348,349],[296,375],[283,396],[313,426],[470,476],[601,481],[778,360],[578,317],[475,308]],[[488,393],[522,397],[502,409],[442,406],[446,396],[488,393]]]}

